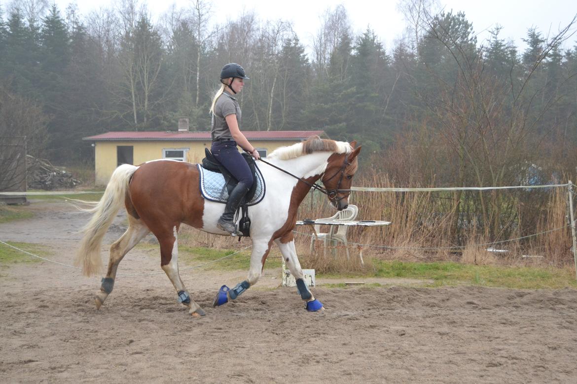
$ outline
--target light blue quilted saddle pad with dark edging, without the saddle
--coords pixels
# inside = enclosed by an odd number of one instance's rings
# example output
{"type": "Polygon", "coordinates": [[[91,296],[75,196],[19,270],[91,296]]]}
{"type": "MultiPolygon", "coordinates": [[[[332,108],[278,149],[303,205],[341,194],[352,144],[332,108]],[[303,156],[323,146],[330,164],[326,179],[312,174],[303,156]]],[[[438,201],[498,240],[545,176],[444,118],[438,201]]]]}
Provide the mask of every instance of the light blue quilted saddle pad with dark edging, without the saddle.
{"type": "MultiPolygon", "coordinates": [[[[226,203],[228,200],[228,190],[226,185],[224,185],[224,176],[222,176],[222,173],[204,169],[200,164],[197,164],[196,167],[200,176],[200,193],[203,197],[207,200],[216,201],[217,203],[226,203]]],[[[255,176],[254,183],[256,183],[256,189],[253,198],[247,203],[249,206],[260,203],[264,197],[264,178],[258,167],[256,167],[255,176]]]]}

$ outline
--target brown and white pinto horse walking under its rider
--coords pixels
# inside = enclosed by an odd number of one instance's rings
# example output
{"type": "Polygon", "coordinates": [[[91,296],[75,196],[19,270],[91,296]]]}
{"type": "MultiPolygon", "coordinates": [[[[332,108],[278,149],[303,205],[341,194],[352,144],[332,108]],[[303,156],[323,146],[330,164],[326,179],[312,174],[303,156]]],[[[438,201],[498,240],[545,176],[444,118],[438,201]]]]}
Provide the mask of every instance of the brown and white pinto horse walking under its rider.
{"type": "MultiPolygon", "coordinates": [[[[293,229],[297,208],[310,188],[327,194],[332,206],[343,210],[348,206],[350,187],[357,172],[357,142],[339,142],[311,136],[304,142],[280,147],[258,162],[266,182],[267,193],[260,203],[250,207],[248,216],[252,254],[248,277],[234,288],[222,286],[213,306],[234,300],[261,277],[265,260],[275,243],[286,265],[297,281],[297,290],[309,311],[324,310],[304,282],[304,275],[294,245],[293,229]],[[282,171],[282,172],[281,172],[282,171]],[[324,185],[315,184],[321,180],[324,185]]],[[[189,307],[193,317],[206,313],[194,302],[178,271],[178,230],[185,223],[201,231],[230,235],[216,226],[224,204],[209,201],[201,195],[200,174],[196,165],[174,160],[153,160],[134,166],[123,164],[114,170],[102,199],[88,211],[91,220],[83,228],[83,238],[75,264],[86,276],[102,269],[102,239],[122,205],[128,213],[128,229],[110,247],[106,276],[95,295],[100,309],[113,291],[122,258],[152,232],[160,245],[160,267],[173,283],[178,301],[189,307]]]]}

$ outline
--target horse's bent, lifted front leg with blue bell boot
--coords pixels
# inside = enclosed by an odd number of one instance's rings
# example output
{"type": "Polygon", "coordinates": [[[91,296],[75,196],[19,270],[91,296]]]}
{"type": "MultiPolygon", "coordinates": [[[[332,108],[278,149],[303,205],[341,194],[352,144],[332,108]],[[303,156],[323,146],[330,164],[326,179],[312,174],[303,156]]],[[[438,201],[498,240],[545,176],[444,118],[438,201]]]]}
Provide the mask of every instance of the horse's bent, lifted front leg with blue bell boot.
{"type": "Polygon", "coordinates": [[[212,306],[216,307],[226,304],[229,300],[236,299],[244,291],[248,290],[249,287],[256,284],[263,273],[264,261],[267,260],[268,252],[270,252],[270,250],[271,245],[268,244],[266,240],[253,239],[248,279],[238,283],[234,288],[228,288],[227,286],[220,287],[220,290],[212,302],[212,306]]]}

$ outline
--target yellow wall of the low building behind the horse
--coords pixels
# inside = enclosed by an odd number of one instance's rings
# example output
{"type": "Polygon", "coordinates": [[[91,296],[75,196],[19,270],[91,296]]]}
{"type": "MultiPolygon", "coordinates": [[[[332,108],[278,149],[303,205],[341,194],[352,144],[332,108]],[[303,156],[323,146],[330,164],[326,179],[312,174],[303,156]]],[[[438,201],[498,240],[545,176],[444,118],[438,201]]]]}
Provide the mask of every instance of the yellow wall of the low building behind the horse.
{"type": "MultiPolygon", "coordinates": [[[[257,149],[266,149],[268,153],[278,147],[293,145],[297,143],[283,141],[258,141],[250,140],[250,143],[257,149]]],[[[134,164],[142,164],[154,159],[162,159],[163,149],[189,149],[188,160],[190,162],[200,162],[204,158],[204,149],[211,147],[211,141],[97,141],[95,142],[95,168],[96,168],[96,185],[106,185],[110,180],[111,174],[117,167],[117,146],[132,146],[134,164]]]]}

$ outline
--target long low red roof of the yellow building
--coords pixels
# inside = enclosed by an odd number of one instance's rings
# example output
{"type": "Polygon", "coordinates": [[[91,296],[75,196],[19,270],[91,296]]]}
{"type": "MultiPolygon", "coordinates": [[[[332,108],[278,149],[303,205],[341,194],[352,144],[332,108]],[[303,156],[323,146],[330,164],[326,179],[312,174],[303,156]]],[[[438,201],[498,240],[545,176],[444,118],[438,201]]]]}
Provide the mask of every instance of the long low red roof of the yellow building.
{"type": "MultiPolygon", "coordinates": [[[[242,131],[247,139],[253,140],[304,140],[312,135],[326,137],[324,131],[242,131]]],[[[176,131],[149,131],[133,132],[119,131],[106,132],[106,134],[88,136],[83,140],[89,141],[208,141],[211,140],[211,132],[176,132],[176,131]]]]}

